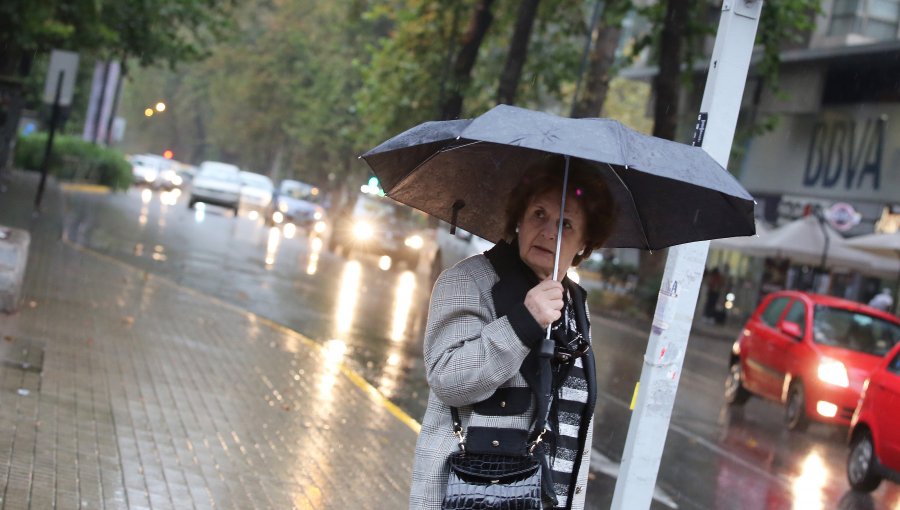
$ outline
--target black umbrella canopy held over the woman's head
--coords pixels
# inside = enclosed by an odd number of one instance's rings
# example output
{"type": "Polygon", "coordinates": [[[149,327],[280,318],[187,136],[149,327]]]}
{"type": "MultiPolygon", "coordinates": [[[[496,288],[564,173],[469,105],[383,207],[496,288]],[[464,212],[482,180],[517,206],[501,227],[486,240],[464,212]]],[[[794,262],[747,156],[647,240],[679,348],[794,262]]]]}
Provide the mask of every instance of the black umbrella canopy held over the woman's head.
{"type": "Polygon", "coordinates": [[[506,197],[546,154],[581,160],[612,192],[618,218],[604,246],[655,250],[755,232],[753,197],[704,150],[610,119],[500,105],[426,122],[362,158],[389,197],[497,242],[506,197]]]}

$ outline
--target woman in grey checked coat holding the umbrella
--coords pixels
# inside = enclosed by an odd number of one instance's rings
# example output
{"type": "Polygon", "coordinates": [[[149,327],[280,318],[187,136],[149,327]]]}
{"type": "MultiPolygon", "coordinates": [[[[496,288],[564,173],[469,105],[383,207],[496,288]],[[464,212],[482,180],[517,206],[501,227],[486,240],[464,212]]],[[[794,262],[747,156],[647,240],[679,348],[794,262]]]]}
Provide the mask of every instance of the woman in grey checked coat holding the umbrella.
{"type": "MultiPolygon", "coordinates": [[[[424,348],[431,392],[416,444],[410,508],[441,507],[447,458],[459,449],[451,406],[469,431],[532,426],[539,402],[531,388],[539,385],[537,360],[551,324],[556,352],[553,398],[544,404],[550,406],[544,508],[584,506],[596,399],[586,294],[551,275],[564,164],[554,156],[529,168],[507,205],[507,239],[435,283],[424,348]]],[[[561,276],[601,246],[612,228],[612,197],[596,172],[571,163],[561,276]]]]}

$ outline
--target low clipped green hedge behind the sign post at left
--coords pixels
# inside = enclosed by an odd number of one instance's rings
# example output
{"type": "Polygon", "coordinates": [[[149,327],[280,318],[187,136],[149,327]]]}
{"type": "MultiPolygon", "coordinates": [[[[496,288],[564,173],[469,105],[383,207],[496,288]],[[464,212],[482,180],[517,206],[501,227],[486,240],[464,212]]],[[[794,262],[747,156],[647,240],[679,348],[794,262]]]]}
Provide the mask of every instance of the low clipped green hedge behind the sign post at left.
{"type": "MultiPolygon", "coordinates": [[[[20,136],[16,144],[15,165],[39,171],[47,145],[46,133],[20,136]]],[[[79,180],[125,190],[131,186],[131,165],[122,153],[94,145],[76,136],[53,138],[49,171],[61,180],[79,180]]]]}

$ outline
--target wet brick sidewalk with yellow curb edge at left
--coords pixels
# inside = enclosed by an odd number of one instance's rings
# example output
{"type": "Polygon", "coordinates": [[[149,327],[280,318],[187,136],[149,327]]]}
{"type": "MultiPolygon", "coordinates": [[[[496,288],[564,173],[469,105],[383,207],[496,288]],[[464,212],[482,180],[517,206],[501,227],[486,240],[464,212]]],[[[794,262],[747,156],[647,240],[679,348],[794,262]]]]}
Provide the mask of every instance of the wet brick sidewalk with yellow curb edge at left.
{"type": "Polygon", "coordinates": [[[415,426],[324,347],[59,240],[13,174],[25,306],[0,314],[0,508],[403,508],[415,426]]]}

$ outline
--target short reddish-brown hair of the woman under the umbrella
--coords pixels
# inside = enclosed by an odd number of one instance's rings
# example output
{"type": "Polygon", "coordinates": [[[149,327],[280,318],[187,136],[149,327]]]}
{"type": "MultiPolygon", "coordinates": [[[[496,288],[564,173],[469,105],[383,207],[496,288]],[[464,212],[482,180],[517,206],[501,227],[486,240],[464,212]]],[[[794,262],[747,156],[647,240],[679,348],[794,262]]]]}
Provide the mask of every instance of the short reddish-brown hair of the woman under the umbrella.
{"type": "MultiPolygon", "coordinates": [[[[554,190],[562,193],[565,164],[564,156],[548,154],[525,169],[522,180],[506,203],[504,234],[507,239],[515,238],[516,226],[536,196],[554,190]]],[[[599,169],[577,158],[570,159],[566,200],[574,200],[581,207],[587,226],[584,253],[576,254],[572,260],[572,265],[577,266],[606,242],[616,221],[617,208],[599,169]]]]}

